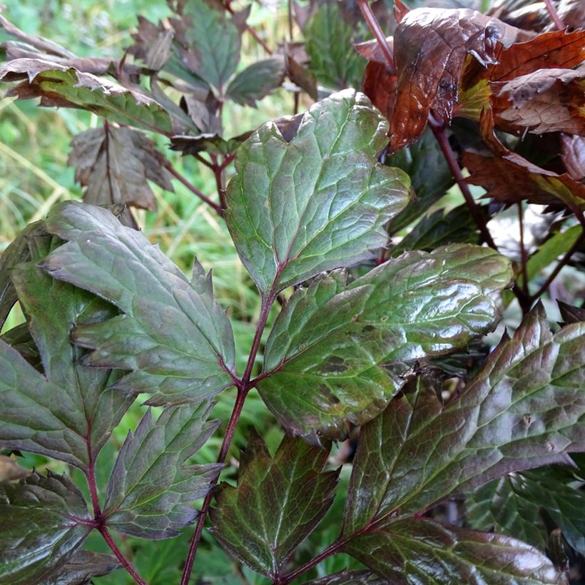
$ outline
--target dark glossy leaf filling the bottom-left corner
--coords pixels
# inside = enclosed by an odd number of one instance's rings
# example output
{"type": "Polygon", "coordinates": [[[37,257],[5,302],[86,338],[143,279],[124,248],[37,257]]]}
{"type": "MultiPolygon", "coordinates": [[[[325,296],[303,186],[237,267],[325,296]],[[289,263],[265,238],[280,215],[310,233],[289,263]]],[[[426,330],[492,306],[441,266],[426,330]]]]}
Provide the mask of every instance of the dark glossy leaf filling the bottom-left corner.
{"type": "Polygon", "coordinates": [[[81,492],[64,475],[35,472],[19,484],[3,484],[0,581],[45,582],[86,540],[89,522],[81,492]]]}

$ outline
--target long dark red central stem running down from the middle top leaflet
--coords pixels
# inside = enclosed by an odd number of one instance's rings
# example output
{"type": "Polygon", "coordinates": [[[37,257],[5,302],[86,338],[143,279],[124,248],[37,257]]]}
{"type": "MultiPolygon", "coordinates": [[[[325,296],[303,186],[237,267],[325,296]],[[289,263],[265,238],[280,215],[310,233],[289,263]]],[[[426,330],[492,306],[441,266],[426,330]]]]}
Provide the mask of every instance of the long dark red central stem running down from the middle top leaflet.
{"type": "MultiPolygon", "coordinates": [[[[254,387],[254,381],[250,382],[250,377],[252,376],[252,370],[254,368],[256,355],[258,354],[258,350],[260,349],[260,341],[262,340],[262,334],[264,332],[264,328],[266,327],[268,315],[270,314],[270,308],[274,304],[275,300],[276,292],[275,285],[273,285],[273,288],[270,289],[268,295],[263,297],[262,300],[262,306],[260,307],[260,316],[258,317],[258,323],[256,324],[254,340],[252,342],[252,347],[250,348],[250,355],[248,355],[248,362],[246,363],[244,375],[240,380],[237,380],[235,382],[235,385],[238,388],[238,397],[235,400],[235,405],[233,407],[230,420],[228,422],[228,427],[225,429],[225,434],[223,436],[223,441],[221,443],[220,453],[218,455],[218,463],[225,462],[226,457],[228,457],[228,452],[230,450],[230,445],[232,443],[235,427],[238,425],[240,414],[242,414],[245,399],[248,396],[248,392],[250,392],[250,390],[254,387]]],[[[215,484],[216,483],[217,480],[215,480],[215,484]]],[[[183,576],[181,577],[180,585],[188,585],[189,583],[191,571],[193,570],[193,562],[195,561],[195,554],[197,554],[197,549],[201,540],[201,534],[203,534],[203,527],[205,526],[205,519],[207,518],[207,514],[212,499],[213,489],[210,490],[210,492],[207,494],[207,496],[205,496],[205,499],[203,500],[201,512],[197,519],[197,526],[195,527],[195,532],[189,545],[187,559],[185,560],[185,569],[183,569],[183,576]]]]}

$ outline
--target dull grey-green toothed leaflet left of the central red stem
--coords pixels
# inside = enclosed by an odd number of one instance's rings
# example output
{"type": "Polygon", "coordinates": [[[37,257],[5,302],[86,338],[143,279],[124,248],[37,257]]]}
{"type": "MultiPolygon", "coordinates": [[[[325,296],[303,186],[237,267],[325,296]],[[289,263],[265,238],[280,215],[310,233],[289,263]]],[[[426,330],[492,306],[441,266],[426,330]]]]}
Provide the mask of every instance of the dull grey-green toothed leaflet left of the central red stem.
{"type": "Polygon", "coordinates": [[[153,392],[148,404],[171,405],[200,402],[232,384],[230,322],[199,264],[189,281],[142,233],[91,205],[57,205],[46,225],[69,243],[45,260],[44,270],[124,313],[73,332],[78,345],[95,349],[83,358],[87,365],[133,370],[113,388],[153,392]]]}

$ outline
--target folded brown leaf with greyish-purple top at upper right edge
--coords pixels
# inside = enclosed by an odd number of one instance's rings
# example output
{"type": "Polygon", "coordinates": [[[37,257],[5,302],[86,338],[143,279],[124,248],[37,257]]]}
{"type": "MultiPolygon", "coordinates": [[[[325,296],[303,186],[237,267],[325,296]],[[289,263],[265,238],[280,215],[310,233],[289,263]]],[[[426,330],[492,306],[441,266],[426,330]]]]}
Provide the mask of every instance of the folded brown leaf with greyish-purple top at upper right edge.
{"type": "Polygon", "coordinates": [[[507,101],[507,107],[499,106],[499,119],[514,128],[535,134],[585,133],[585,68],[539,69],[492,83],[492,88],[507,101]]]}

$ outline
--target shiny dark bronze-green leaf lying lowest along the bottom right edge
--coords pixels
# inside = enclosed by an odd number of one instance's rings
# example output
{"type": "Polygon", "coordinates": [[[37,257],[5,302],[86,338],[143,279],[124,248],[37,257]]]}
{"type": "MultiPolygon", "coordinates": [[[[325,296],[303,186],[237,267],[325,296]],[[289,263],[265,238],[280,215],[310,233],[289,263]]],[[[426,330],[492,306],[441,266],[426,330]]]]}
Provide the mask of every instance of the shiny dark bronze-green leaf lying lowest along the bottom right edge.
{"type": "Polygon", "coordinates": [[[354,536],[344,549],[392,584],[564,582],[551,561],[524,542],[427,519],[388,522],[354,536]]]}

